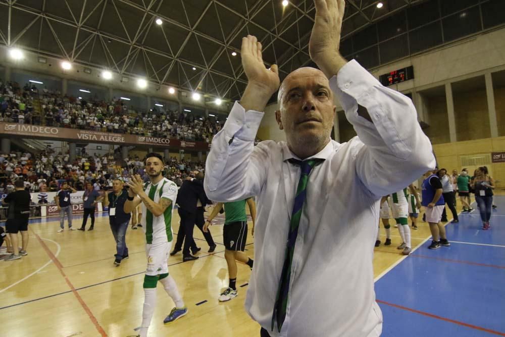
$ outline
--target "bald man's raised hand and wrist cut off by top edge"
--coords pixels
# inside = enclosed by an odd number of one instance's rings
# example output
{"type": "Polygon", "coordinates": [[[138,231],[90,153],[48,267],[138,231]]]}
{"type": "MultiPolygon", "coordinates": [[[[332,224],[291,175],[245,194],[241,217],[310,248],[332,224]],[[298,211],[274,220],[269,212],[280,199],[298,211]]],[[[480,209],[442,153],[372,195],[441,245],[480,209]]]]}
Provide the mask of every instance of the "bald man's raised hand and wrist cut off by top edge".
{"type": "Polygon", "coordinates": [[[340,56],[340,32],[344,16],[344,0],[314,0],[316,18],[309,42],[312,61],[330,78],[346,61],[340,56]]]}

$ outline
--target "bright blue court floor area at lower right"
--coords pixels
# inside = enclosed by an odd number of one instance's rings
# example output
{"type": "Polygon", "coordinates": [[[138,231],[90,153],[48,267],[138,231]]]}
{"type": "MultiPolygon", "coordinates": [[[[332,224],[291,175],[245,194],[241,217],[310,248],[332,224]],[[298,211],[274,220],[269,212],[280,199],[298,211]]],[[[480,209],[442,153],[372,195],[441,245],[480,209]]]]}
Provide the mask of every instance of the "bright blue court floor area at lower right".
{"type": "Polygon", "coordinates": [[[462,213],[450,247],[428,241],[375,283],[383,336],[505,336],[505,197],[494,204],[491,229],[462,213]]]}

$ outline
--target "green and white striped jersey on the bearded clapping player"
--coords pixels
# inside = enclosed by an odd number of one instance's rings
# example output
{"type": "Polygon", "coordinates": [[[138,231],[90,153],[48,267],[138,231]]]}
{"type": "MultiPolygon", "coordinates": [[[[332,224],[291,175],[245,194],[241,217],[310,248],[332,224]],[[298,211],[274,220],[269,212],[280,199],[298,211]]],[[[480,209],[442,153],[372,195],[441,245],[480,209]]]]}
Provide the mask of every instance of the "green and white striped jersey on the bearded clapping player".
{"type": "Polygon", "coordinates": [[[177,185],[167,178],[163,178],[156,185],[151,182],[144,184],[144,191],[151,200],[159,203],[165,198],[172,201],[165,212],[160,216],[154,216],[142,203],[142,230],[145,233],[147,244],[158,244],[172,241],[172,210],[177,200],[177,185]]]}

